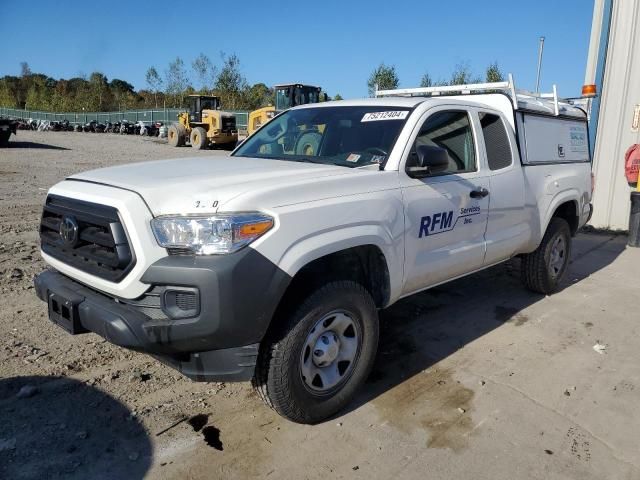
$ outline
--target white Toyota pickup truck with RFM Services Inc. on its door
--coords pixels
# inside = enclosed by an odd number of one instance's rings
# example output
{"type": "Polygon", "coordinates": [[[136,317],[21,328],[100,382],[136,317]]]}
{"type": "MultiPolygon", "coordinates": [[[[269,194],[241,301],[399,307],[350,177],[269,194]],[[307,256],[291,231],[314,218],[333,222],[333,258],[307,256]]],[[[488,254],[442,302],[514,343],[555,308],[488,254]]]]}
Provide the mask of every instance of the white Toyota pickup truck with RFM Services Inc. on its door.
{"type": "Polygon", "coordinates": [[[322,421],[367,378],[378,310],[515,256],[537,292],[567,269],[586,116],[485,88],[296,107],[230,157],[73,175],[46,199],[37,294],[72,334],[322,421]]]}

